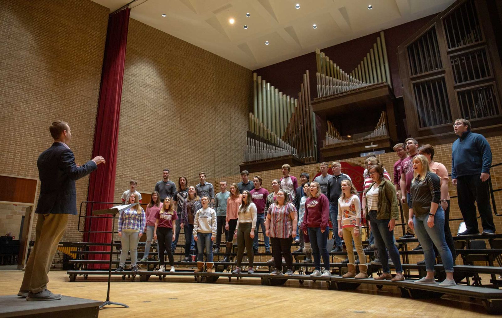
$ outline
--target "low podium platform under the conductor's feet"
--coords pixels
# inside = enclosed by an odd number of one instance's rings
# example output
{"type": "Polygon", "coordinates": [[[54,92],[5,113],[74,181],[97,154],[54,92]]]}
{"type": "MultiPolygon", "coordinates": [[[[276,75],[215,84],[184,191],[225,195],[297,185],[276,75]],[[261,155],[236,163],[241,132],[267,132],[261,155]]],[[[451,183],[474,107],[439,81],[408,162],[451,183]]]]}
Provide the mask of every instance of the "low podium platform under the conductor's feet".
{"type": "Polygon", "coordinates": [[[0,318],[94,318],[102,301],[63,296],[60,300],[27,301],[17,295],[0,296],[0,318]]]}

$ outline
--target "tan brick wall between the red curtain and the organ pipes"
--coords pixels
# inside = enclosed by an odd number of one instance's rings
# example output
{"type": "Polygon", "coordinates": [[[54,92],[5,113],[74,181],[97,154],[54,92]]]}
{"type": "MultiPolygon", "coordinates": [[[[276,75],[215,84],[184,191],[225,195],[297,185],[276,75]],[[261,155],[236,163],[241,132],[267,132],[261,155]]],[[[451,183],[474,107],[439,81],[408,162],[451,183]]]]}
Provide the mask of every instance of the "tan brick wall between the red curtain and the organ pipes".
{"type": "Polygon", "coordinates": [[[131,19],[124,68],[115,199],[138,181],[151,193],[171,171],[185,175],[238,173],[243,160],[250,70],[131,19]],[[138,151],[138,149],[140,151],[138,151]]]}

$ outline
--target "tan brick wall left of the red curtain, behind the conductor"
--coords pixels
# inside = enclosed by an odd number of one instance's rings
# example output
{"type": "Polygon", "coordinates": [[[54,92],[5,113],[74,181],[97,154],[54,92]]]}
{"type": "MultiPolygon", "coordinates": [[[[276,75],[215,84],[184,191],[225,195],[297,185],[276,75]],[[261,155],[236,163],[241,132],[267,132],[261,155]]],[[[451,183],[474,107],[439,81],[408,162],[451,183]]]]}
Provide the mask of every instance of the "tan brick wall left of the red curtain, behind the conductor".
{"type": "MultiPolygon", "coordinates": [[[[107,21],[108,9],[91,1],[2,0],[0,173],[38,177],[54,120],[70,124],[76,162],[90,159],[107,21]]],[[[77,181],[78,202],[87,186],[87,177],[77,181]]],[[[63,240],[81,240],[76,222],[63,240]]]]}

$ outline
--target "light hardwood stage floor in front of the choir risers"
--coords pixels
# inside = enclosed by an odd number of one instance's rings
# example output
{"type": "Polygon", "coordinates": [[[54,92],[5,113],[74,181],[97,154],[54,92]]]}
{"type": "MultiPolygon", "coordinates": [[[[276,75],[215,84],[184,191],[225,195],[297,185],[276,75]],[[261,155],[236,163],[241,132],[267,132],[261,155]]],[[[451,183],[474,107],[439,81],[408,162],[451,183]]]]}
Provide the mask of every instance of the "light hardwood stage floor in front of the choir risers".
{"type": "MultiPolygon", "coordinates": [[[[23,271],[0,271],[0,295],[19,291],[23,271]]],[[[91,276],[69,282],[66,271],[49,273],[49,289],[63,295],[106,299],[106,278],[91,276]]],[[[236,282],[220,277],[216,283],[197,283],[193,277],[166,277],[148,282],[122,281],[113,277],[110,300],[130,308],[108,307],[99,317],[473,317],[488,316],[484,308],[465,297],[462,301],[402,298],[397,288],[361,285],[352,291],[326,289],[325,283],[288,281],[283,286],[262,286],[260,279],[244,278],[236,282]]],[[[68,317],[70,318],[70,317],[68,317]]]]}

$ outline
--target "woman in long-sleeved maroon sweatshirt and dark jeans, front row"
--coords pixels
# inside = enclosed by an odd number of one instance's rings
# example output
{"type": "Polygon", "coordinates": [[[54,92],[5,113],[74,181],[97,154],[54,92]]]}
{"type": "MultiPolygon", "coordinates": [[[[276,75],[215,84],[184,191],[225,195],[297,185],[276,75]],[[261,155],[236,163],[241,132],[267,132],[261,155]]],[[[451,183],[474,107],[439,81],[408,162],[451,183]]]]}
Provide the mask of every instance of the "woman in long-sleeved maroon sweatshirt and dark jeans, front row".
{"type": "Polygon", "coordinates": [[[308,234],[314,255],[315,270],[310,276],[330,277],[329,255],[326,249],[329,234],[329,200],[321,193],[319,183],[310,184],[310,193],[305,202],[302,231],[308,234]],[[324,272],[321,275],[321,256],[324,261],[324,272]]]}

